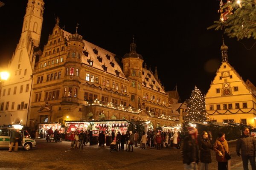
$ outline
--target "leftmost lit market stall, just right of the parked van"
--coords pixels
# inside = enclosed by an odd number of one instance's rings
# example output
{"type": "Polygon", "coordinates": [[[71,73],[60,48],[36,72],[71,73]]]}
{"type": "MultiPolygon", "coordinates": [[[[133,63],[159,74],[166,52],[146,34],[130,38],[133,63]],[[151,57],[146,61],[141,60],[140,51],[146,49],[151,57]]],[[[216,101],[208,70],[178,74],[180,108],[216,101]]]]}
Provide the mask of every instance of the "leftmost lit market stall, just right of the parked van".
{"type": "Polygon", "coordinates": [[[47,134],[47,130],[52,127],[52,130],[58,129],[60,133],[64,133],[64,126],[59,122],[51,122],[51,123],[39,123],[38,124],[38,132],[36,137],[45,138],[47,134]]]}

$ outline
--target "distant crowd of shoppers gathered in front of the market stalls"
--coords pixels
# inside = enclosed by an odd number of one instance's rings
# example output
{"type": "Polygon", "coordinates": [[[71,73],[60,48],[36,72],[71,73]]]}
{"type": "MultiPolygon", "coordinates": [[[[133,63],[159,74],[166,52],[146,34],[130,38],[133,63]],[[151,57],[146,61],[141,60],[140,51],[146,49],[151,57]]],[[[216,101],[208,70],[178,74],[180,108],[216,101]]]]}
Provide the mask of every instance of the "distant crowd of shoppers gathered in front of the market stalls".
{"type": "MultiPolygon", "coordinates": [[[[110,132],[109,130],[102,130],[98,135],[97,143],[99,146],[105,147],[105,145],[107,145],[106,137],[108,136],[112,137],[111,142],[115,142],[117,150],[125,150],[128,152],[133,152],[133,147],[141,147],[142,149],[153,147],[157,148],[157,150],[161,150],[163,147],[180,149],[181,141],[180,132],[178,130],[168,130],[166,132],[151,130],[147,133],[142,132],[141,134],[138,131],[127,131],[126,133],[122,132],[121,134],[119,131],[114,133],[114,131],[110,132]],[[138,146],[138,143],[140,146],[138,146]]],[[[86,144],[93,144],[93,132],[91,130],[80,132],[73,131],[70,140],[71,148],[79,149],[81,147],[81,149],[83,149],[83,146],[86,146],[86,144]]]]}

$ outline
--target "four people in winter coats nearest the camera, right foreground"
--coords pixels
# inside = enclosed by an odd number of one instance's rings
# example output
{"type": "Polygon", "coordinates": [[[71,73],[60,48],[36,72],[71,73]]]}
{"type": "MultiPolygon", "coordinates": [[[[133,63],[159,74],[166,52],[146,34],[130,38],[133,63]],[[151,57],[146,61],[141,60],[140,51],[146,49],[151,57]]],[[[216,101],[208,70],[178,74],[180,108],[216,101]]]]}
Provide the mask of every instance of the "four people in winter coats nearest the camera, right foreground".
{"type": "MultiPolygon", "coordinates": [[[[208,170],[209,164],[212,162],[211,150],[215,152],[218,170],[231,170],[231,156],[225,133],[219,132],[218,138],[213,142],[210,132],[203,131],[198,137],[198,130],[195,127],[187,129],[188,133],[180,150],[184,170],[198,170],[199,162],[200,170],[208,170]]],[[[255,146],[256,139],[250,135],[249,128],[245,127],[236,143],[236,152],[238,156],[242,157],[244,170],[248,170],[248,161],[250,161],[252,170],[256,170],[255,146]]]]}

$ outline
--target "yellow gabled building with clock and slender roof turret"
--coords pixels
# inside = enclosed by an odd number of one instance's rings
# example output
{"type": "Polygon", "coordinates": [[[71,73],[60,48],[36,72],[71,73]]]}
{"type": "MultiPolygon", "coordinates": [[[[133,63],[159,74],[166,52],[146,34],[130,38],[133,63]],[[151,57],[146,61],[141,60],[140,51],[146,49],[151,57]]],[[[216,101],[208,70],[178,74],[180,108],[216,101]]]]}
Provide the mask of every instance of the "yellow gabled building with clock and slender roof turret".
{"type": "Polygon", "coordinates": [[[214,122],[236,122],[255,126],[256,91],[230,65],[227,49],[222,40],[221,65],[205,96],[207,114],[214,122]]]}

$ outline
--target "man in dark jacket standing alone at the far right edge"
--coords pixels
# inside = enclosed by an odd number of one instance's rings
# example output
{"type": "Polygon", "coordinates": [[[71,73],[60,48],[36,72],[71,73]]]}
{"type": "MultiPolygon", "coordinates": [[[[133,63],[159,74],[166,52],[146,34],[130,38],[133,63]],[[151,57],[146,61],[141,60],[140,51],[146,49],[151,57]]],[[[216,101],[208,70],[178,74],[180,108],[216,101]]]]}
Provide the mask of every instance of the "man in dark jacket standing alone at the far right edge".
{"type": "Polygon", "coordinates": [[[242,157],[244,170],[248,170],[248,160],[250,160],[252,170],[256,170],[255,146],[256,139],[250,135],[249,128],[245,127],[243,135],[236,142],[236,153],[242,157]]]}

